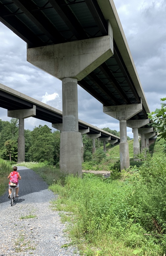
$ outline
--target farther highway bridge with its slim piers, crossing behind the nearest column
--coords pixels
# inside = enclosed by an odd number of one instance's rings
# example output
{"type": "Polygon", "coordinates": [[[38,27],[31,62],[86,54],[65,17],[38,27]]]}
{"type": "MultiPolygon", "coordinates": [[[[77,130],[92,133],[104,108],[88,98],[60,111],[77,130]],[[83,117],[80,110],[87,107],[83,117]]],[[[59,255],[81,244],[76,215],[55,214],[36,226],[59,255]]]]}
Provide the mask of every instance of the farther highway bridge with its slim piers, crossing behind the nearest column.
{"type": "MultiPolygon", "coordinates": [[[[38,100],[35,100],[23,93],[20,93],[8,86],[0,83],[0,107],[8,110],[9,117],[19,118],[19,137],[18,137],[18,162],[25,161],[25,138],[24,138],[24,118],[30,116],[49,122],[53,128],[62,131],[63,130],[63,114],[61,110],[44,104],[38,100]],[[21,116],[22,115],[22,116],[21,116]],[[22,120],[21,120],[22,119],[22,120]]],[[[87,134],[89,138],[93,139],[93,149],[95,147],[95,139],[99,139],[103,142],[104,151],[105,142],[110,144],[119,144],[120,138],[109,132],[106,132],[94,125],[84,122],[78,119],[78,128],[81,135],[87,134]]],[[[82,138],[80,143],[82,142],[82,138]]],[[[82,161],[83,161],[83,143],[82,144],[82,161]]]]}

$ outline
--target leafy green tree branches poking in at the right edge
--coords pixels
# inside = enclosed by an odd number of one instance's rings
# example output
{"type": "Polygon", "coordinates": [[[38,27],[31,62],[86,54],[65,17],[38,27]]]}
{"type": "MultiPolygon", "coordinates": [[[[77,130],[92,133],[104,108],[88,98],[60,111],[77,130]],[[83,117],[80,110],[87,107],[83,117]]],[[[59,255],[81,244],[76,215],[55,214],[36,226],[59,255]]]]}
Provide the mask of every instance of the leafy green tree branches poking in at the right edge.
{"type": "MultiPolygon", "coordinates": [[[[166,98],[160,99],[166,101],[166,98]]],[[[150,120],[153,120],[152,126],[155,127],[160,139],[166,141],[166,104],[161,103],[161,108],[156,108],[152,113],[147,113],[150,120]]],[[[166,144],[164,144],[166,148],[166,144]]]]}

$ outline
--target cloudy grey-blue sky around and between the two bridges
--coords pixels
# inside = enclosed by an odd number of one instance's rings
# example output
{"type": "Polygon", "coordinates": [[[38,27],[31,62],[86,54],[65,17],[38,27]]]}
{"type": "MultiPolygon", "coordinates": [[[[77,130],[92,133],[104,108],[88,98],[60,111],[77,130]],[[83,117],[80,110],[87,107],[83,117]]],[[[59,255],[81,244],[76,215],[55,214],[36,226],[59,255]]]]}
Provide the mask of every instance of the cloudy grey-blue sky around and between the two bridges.
{"type": "MultiPolygon", "coordinates": [[[[114,0],[151,111],[166,97],[166,0],[114,0]],[[125,2],[125,3],[122,3],[125,2]]],[[[62,110],[62,84],[26,61],[26,43],[0,22],[0,83],[62,110]]],[[[119,121],[78,86],[78,118],[99,128],[119,131],[119,121]]],[[[10,121],[0,108],[0,119],[10,121]]],[[[25,119],[25,129],[47,124],[25,119]]],[[[127,135],[133,138],[130,128],[127,135]]]]}

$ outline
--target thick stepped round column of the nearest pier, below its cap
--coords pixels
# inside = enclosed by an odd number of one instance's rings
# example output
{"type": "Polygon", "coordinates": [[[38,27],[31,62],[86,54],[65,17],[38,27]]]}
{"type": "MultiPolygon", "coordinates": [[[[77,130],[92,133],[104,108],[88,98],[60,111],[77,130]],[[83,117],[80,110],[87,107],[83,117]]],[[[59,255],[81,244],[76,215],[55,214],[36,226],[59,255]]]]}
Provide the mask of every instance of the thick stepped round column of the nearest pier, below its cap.
{"type": "Polygon", "coordinates": [[[62,79],[63,131],[61,169],[82,176],[81,133],[78,131],[77,79],[62,79]]]}

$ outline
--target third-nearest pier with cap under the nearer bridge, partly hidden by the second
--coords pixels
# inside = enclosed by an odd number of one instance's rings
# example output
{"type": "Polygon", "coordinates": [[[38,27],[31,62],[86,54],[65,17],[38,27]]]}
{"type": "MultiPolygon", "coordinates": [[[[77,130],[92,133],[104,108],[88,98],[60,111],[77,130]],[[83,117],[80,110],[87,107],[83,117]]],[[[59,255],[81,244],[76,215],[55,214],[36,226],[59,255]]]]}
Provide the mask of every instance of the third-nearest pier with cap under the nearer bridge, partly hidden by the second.
{"type": "MultiPolygon", "coordinates": [[[[149,124],[149,119],[145,120],[128,120],[127,121],[127,126],[132,128],[133,131],[133,154],[134,156],[140,153],[140,144],[138,140],[138,128],[149,124]]],[[[140,161],[138,158],[134,158],[134,161],[140,161]]]]}

